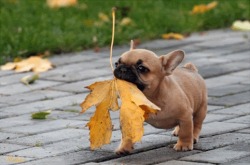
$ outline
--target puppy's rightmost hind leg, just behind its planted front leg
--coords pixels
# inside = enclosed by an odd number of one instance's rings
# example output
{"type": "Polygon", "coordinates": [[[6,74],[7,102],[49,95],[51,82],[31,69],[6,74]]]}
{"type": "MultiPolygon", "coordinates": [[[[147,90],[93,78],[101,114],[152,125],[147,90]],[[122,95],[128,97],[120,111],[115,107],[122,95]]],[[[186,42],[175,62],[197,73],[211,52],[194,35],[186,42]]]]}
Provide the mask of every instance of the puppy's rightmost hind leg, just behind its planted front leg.
{"type": "Polygon", "coordinates": [[[202,123],[203,120],[205,119],[207,114],[207,103],[203,103],[200,107],[200,109],[198,110],[198,112],[196,112],[196,114],[194,115],[194,119],[193,119],[193,123],[194,123],[194,144],[198,142],[199,140],[199,136],[200,136],[200,132],[201,132],[201,128],[202,128],[202,123]]]}

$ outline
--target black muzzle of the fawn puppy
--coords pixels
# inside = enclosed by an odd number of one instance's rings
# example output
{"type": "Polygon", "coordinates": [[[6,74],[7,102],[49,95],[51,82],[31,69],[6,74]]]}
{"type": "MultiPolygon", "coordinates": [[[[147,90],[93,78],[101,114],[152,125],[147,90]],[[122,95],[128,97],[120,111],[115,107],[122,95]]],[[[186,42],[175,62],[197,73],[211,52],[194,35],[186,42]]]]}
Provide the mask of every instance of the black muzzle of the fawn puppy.
{"type": "Polygon", "coordinates": [[[114,70],[114,75],[116,78],[131,82],[137,86],[138,89],[143,91],[145,89],[145,84],[143,84],[138,78],[139,75],[135,68],[131,66],[127,66],[124,64],[120,64],[114,70]]]}

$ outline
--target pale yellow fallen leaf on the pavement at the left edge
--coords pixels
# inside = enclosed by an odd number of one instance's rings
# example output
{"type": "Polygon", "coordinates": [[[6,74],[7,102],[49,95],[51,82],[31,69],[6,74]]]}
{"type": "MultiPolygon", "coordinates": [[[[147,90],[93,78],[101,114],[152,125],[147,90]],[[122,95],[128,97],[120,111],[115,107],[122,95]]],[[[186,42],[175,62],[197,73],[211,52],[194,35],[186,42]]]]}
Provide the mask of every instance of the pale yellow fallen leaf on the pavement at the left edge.
{"type": "Polygon", "coordinates": [[[7,63],[1,66],[1,70],[15,70],[16,72],[45,72],[52,69],[52,64],[47,59],[39,56],[32,56],[20,62],[7,63]]]}

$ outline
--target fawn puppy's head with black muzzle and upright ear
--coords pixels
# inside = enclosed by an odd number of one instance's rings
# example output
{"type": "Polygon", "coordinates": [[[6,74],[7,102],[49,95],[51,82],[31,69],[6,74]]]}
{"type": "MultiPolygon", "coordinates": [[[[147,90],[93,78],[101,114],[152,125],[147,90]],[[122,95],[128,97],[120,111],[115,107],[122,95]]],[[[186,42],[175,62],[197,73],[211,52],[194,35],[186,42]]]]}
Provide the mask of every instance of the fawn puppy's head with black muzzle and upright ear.
{"type": "Polygon", "coordinates": [[[165,76],[172,74],[183,58],[184,52],[181,50],[158,57],[149,50],[131,49],[123,53],[115,63],[114,75],[136,84],[141,91],[147,90],[150,94],[165,76]]]}

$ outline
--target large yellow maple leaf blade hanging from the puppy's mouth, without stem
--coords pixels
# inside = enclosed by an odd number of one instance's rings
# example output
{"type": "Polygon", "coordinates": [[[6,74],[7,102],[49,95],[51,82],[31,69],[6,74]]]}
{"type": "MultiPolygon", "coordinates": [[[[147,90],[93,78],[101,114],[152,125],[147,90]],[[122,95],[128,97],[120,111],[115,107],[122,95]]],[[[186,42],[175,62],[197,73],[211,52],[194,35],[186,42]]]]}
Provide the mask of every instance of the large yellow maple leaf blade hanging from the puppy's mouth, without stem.
{"type": "Polygon", "coordinates": [[[90,147],[96,149],[110,143],[112,123],[109,110],[120,107],[120,126],[123,139],[138,142],[143,136],[143,122],[149,113],[156,113],[159,107],[151,103],[144,94],[132,83],[112,79],[96,82],[87,87],[91,93],[81,104],[82,113],[95,105],[96,111],[87,126],[90,129],[90,147]]]}

